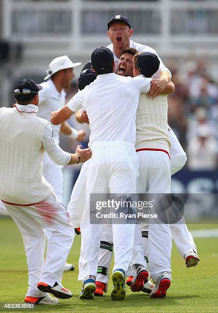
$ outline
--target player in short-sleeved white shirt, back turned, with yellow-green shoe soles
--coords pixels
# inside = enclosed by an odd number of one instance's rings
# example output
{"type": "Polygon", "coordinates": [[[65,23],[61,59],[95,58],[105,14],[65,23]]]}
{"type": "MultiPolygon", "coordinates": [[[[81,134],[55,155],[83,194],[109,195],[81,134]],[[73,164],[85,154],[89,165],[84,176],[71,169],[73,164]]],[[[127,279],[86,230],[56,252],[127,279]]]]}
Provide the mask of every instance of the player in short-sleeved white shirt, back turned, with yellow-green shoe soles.
{"type": "MultiPolygon", "coordinates": [[[[90,223],[89,197],[93,193],[135,193],[138,175],[134,147],[137,101],[140,92],[148,93],[151,86],[151,79],[115,75],[113,54],[107,48],[97,48],[91,55],[91,63],[93,71],[98,74],[96,80],[76,94],[64,108],[53,113],[51,118],[52,123],[60,124],[84,107],[90,123],[89,145],[93,162],[87,171],[87,203],[81,221],[79,280],[84,281],[81,299],[93,298],[102,234],[102,225],[90,223]]],[[[113,223],[112,229],[116,240],[111,298],[123,300],[135,225],[113,223]]]]}

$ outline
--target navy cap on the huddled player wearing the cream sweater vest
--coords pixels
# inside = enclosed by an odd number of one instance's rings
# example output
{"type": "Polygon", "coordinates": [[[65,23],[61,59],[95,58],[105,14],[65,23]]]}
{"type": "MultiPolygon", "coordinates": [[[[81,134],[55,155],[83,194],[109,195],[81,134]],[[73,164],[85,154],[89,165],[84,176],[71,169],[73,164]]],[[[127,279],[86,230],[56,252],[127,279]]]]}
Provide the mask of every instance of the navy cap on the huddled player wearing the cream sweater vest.
{"type": "Polygon", "coordinates": [[[159,69],[160,60],[154,53],[143,52],[137,57],[137,66],[142,75],[152,77],[159,69]]]}

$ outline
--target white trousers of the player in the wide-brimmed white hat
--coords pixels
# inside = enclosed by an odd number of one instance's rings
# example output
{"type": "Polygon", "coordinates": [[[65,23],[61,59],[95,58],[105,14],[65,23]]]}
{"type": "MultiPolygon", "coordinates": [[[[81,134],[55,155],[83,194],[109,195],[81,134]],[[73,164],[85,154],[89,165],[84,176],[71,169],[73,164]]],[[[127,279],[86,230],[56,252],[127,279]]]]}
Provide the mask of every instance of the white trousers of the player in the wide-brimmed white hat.
{"type": "Polygon", "coordinates": [[[54,189],[54,193],[57,195],[60,202],[63,203],[63,166],[55,164],[50,159],[49,155],[44,152],[42,167],[43,176],[54,189]]]}

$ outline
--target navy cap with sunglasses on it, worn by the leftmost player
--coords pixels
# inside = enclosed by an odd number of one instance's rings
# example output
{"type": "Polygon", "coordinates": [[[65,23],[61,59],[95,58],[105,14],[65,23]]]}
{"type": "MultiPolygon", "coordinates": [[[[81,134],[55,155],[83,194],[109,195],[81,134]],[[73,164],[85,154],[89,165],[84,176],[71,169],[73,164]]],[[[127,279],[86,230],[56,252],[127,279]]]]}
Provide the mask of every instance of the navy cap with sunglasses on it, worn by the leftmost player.
{"type": "Polygon", "coordinates": [[[14,97],[17,101],[28,101],[32,99],[42,86],[38,85],[32,79],[21,79],[16,83],[14,97]]]}

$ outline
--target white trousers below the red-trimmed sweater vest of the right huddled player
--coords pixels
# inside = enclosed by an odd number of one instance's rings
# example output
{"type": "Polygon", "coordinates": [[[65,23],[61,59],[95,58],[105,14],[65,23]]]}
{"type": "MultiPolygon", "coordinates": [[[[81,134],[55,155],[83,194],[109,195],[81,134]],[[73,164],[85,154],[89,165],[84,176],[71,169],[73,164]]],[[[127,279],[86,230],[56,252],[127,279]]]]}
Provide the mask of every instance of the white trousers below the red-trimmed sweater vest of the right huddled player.
{"type": "MultiPolygon", "coordinates": [[[[139,161],[138,193],[157,194],[171,192],[171,164],[163,151],[142,150],[137,152],[139,161]]],[[[156,213],[156,212],[154,212],[156,213]]],[[[154,282],[162,272],[171,273],[172,236],[169,224],[149,223],[149,264],[154,282]]],[[[133,252],[135,255],[135,252],[133,252]]],[[[134,263],[134,259],[133,259],[134,263]]]]}

